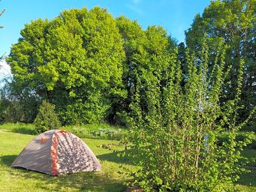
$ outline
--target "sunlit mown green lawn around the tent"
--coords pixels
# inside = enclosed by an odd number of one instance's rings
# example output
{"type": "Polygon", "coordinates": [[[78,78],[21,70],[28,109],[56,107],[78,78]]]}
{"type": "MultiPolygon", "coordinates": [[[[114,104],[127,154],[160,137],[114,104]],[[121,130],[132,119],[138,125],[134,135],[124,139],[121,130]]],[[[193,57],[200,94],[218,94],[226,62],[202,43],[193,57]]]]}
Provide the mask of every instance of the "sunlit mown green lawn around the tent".
{"type": "MultiPolygon", "coordinates": [[[[127,176],[119,174],[120,165],[136,169],[128,159],[119,159],[114,150],[122,150],[118,141],[105,139],[83,139],[90,146],[102,165],[102,172],[48,176],[35,171],[12,169],[12,161],[34,135],[17,133],[10,129],[0,129],[0,191],[126,191],[124,181],[127,176]],[[100,147],[111,144],[111,149],[100,147]]],[[[256,150],[246,149],[245,156],[256,157],[256,150]]],[[[241,176],[237,183],[240,191],[256,191],[256,166],[250,162],[251,172],[241,176]]]]}

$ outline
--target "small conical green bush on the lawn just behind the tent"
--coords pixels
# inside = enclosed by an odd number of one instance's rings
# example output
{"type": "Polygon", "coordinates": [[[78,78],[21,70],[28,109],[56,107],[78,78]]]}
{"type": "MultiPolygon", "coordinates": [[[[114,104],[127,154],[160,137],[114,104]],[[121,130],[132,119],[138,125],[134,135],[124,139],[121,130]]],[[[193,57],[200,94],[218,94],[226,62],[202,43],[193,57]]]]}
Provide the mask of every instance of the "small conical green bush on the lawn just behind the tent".
{"type": "Polygon", "coordinates": [[[60,127],[60,122],[57,114],[55,114],[55,105],[43,100],[35,119],[35,125],[37,134],[46,132],[50,129],[58,129],[58,127],[60,127]]]}

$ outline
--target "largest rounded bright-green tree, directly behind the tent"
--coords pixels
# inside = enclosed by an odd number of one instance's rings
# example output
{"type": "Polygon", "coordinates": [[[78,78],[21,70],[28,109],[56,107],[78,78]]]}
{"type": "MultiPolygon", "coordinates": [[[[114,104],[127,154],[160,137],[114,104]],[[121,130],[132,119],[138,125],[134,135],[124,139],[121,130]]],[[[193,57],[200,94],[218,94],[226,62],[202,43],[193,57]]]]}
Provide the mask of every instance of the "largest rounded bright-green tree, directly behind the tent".
{"type": "Polygon", "coordinates": [[[7,62],[20,92],[56,105],[63,124],[107,119],[126,97],[124,50],[114,18],[95,7],[26,24],[7,62]]]}

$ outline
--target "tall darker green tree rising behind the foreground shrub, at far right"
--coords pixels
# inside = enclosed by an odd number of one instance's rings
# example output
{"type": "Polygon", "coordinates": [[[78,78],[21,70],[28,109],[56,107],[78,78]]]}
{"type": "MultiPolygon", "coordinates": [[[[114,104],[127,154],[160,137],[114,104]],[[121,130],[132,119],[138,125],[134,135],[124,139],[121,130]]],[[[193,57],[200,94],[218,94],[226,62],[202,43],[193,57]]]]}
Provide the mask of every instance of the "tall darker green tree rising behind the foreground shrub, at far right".
{"type": "Polygon", "coordinates": [[[245,119],[252,107],[256,105],[256,2],[255,0],[212,1],[203,15],[196,15],[191,28],[186,31],[186,44],[191,50],[198,52],[202,48],[203,37],[208,37],[210,48],[210,65],[214,65],[216,46],[221,39],[228,45],[225,57],[225,68],[232,66],[229,78],[225,83],[223,102],[235,95],[235,79],[238,75],[239,61],[245,61],[245,73],[242,82],[242,100],[240,106],[245,108],[241,120],[245,119]]]}

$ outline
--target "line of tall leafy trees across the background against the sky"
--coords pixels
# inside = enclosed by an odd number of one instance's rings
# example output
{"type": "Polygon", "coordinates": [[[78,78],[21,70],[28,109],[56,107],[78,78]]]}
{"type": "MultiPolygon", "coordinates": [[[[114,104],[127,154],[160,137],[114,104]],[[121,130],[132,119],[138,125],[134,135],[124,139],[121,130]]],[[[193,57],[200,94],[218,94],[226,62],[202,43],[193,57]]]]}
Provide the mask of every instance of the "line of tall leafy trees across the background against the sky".
{"type": "MultiPolygon", "coordinates": [[[[213,1],[186,31],[186,46],[177,44],[161,26],[143,30],[136,21],[113,18],[99,7],[63,11],[50,21],[32,21],[21,30],[21,38],[6,58],[14,76],[1,90],[0,120],[33,122],[42,100],[47,100],[55,105],[62,124],[106,121],[127,125],[135,92],[143,95],[150,90],[143,82],[145,71],[161,78],[178,62],[184,85],[186,53],[200,60],[206,42],[210,71],[217,47],[224,41],[228,46],[224,68],[230,73],[220,105],[235,97],[235,78],[243,59],[242,100],[237,106],[242,121],[256,98],[254,2],[213,1]]],[[[140,99],[144,110],[147,99],[140,99]]]]}

